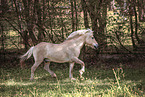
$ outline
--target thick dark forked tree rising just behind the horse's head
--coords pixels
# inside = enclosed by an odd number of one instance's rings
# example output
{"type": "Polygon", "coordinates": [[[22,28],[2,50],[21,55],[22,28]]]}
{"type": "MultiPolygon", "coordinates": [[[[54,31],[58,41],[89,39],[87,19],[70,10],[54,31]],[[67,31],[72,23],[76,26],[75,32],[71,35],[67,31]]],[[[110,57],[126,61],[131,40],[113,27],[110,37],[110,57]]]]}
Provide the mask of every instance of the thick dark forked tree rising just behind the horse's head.
{"type": "Polygon", "coordinates": [[[87,13],[89,13],[92,29],[94,35],[99,42],[100,48],[106,46],[106,17],[107,17],[107,6],[111,0],[81,0],[82,8],[84,12],[84,23],[88,26],[87,13]]]}

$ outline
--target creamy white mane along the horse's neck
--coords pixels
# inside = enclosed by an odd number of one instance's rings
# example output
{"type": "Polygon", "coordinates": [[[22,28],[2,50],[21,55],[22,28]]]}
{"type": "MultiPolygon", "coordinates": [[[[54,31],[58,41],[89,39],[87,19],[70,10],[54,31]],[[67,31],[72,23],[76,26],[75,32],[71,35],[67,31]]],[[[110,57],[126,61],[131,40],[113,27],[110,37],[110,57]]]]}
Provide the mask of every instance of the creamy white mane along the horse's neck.
{"type": "Polygon", "coordinates": [[[73,39],[74,37],[79,36],[79,35],[84,35],[84,34],[86,34],[87,32],[93,32],[93,31],[90,30],[90,29],[74,31],[74,32],[72,32],[72,33],[67,37],[67,40],[73,39]]]}

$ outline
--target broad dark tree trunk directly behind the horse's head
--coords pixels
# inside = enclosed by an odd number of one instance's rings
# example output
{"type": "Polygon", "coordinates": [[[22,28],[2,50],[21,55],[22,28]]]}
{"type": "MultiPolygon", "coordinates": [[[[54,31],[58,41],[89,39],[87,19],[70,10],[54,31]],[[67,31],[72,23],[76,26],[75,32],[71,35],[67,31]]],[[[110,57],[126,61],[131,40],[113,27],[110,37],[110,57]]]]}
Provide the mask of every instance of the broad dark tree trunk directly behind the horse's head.
{"type": "Polygon", "coordinates": [[[91,18],[92,30],[94,31],[94,36],[96,37],[96,40],[98,41],[99,44],[106,44],[106,37],[105,37],[104,30],[106,27],[107,5],[103,4],[105,3],[105,1],[102,2],[102,0],[97,0],[97,1],[89,0],[88,2],[89,2],[88,13],[91,18]]]}

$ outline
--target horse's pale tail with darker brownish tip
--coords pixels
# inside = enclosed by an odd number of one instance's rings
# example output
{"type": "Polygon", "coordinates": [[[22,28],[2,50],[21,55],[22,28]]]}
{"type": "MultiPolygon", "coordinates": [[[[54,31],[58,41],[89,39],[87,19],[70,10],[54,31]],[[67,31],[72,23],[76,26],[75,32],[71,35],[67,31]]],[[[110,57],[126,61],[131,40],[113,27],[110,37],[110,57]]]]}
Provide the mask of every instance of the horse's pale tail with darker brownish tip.
{"type": "Polygon", "coordinates": [[[31,57],[33,53],[34,46],[32,46],[24,55],[20,56],[21,68],[23,68],[24,61],[31,57]]]}

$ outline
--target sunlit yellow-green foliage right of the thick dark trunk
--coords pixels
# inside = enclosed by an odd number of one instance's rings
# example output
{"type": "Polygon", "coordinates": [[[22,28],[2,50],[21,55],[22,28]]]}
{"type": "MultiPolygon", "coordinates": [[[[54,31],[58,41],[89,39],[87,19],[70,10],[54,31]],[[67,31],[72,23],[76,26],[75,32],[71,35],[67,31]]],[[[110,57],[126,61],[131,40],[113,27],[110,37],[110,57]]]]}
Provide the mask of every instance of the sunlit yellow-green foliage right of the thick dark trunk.
{"type": "MultiPolygon", "coordinates": [[[[116,10],[116,12],[108,12],[106,31],[107,43],[109,45],[115,46],[118,53],[119,48],[130,53],[134,49],[133,41],[135,42],[134,45],[140,46],[139,41],[142,40],[140,34],[144,29],[144,23],[138,23],[138,25],[140,26],[138,27],[138,29],[136,29],[138,32],[136,37],[135,34],[132,35],[129,18],[129,16],[123,15],[120,10],[116,10]],[[139,40],[137,40],[137,38],[139,38],[139,40]],[[128,48],[126,48],[127,46],[128,48]]],[[[135,22],[135,17],[133,17],[133,22],[135,22]]],[[[133,23],[133,26],[135,25],[136,24],[133,23]]]]}

